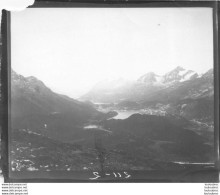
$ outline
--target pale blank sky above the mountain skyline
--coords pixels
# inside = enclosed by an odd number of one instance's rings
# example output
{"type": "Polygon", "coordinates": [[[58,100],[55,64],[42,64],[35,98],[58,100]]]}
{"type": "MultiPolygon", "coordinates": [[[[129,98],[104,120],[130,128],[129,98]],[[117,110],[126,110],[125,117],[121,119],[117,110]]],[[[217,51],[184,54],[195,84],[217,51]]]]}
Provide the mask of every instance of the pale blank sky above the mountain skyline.
{"type": "Polygon", "coordinates": [[[29,8],[11,14],[11,66],[78,98],[106,78],[213,67],[211,8],[29,8]]]}

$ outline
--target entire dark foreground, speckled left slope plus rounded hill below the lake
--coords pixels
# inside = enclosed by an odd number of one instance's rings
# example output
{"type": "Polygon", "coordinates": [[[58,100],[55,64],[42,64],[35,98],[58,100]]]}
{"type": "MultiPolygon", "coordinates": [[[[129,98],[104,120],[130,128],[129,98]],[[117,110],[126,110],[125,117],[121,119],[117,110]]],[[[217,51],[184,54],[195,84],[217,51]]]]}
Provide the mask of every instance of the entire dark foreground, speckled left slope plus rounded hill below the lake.
{"type": "Polygon", "coordinates": [[[72,144],[13,130],[12,171],[180,170],[213,162],[213,147],[204,137],[165,117],[137,114],[99,125],[103,128],[94,126],[86,139],[72,144]]]}

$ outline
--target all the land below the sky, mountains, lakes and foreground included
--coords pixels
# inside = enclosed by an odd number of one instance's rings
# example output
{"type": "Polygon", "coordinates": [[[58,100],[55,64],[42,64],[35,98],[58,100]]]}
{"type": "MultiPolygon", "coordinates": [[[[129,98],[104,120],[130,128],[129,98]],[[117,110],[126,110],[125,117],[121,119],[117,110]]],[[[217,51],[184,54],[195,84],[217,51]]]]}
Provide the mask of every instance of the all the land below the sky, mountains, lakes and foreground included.
{"type": "Polygon", "coordinates": [[[11,171],[213,167],[213,75],[181,71],[79,100],[12,72],[11,171]]]}

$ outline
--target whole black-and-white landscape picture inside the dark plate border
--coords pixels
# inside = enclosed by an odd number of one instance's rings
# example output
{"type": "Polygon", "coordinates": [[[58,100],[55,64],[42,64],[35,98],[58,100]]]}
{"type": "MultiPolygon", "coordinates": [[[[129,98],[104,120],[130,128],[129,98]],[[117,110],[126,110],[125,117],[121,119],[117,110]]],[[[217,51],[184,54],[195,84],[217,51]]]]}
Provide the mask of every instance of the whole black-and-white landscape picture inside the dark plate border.
{"type": "Polygon", "coordinates": [[[214,169],[213,36],[209,7],[12,12],[9,177],[214,169]]]}

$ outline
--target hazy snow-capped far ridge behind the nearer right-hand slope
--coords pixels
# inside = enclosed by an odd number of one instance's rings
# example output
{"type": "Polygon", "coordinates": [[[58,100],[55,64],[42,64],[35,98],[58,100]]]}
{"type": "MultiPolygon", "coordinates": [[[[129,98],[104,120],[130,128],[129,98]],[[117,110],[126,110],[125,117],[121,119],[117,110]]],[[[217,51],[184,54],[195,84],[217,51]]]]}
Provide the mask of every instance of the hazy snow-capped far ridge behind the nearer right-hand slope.
{"type": "MultiPolygon", "coordinates": [[[[94,86],[91,91],[81,96],[80,100],[103,103],[120,102],[122,100],[150,101],[151,97],[161,90],[173,91],[172,89],[181,88],[181,86],[185,85],[190,88],[190,84],[187,83],[194,84],[198,80],[204,80],[205,78],[207,80],[213,79],[213,69],[199,75],[193,70],[186,70],[178,66],[162,76],[154,72],[148,72],[129,84],[117,83],[117,80],[115,80],[112,83],[108,83],[110,87],[99,88],[99,86],[94,86]],[[120,87],[117,87],[117,85],[120,87]]],[[[103,86],[105,86],[104,83],[103,86]]]]}

